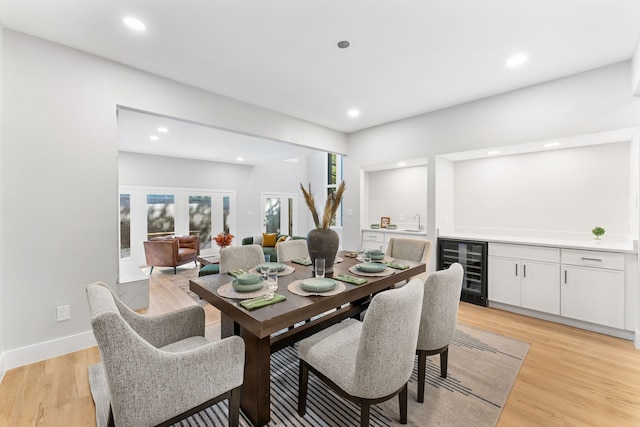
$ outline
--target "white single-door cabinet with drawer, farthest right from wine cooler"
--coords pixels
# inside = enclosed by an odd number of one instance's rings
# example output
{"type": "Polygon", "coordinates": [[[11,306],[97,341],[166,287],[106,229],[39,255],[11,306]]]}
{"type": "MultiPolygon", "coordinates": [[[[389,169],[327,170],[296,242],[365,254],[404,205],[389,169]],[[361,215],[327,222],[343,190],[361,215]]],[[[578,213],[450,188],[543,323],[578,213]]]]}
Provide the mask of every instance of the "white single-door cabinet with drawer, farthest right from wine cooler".
{"type": "Polygon", "coordinates": [[[624,329],[624,255],[562,250],[562,316],[624,329]]]}

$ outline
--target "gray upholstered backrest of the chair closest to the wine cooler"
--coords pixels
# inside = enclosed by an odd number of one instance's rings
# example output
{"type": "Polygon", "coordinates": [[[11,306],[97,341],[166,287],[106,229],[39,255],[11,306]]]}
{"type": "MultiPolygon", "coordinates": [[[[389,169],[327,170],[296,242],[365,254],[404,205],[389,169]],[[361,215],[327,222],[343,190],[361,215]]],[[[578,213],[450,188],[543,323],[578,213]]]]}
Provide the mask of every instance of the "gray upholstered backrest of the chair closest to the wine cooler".
{"type": "Polygon", "coordinates": [[[456,331],[464,269],[454,263],[436,271],[424,284],[418,350],[438,350],[451,342],[456,331]]]}

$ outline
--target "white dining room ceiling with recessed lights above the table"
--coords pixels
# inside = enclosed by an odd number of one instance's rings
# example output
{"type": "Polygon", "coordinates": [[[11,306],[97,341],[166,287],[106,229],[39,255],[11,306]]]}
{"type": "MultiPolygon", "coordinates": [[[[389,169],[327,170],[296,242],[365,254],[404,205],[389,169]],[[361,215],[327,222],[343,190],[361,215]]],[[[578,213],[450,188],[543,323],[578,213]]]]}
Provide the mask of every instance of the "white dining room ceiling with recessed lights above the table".
{"type": "Polygon", "coordinates": [[[0,21],[352,132],[628,60],[640,1],[0,0],[0,21]]]}

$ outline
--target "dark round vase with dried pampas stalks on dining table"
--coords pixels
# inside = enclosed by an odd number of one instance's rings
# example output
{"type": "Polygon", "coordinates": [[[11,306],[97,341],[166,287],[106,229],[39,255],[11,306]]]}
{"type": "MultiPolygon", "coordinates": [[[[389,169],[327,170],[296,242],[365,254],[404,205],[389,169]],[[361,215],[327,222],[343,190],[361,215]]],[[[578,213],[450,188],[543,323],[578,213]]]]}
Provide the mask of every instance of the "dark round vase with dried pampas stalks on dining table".
{"type": "Polygon", "coordinates": [[[311,216],[316,226],[316,228],[307,234],[307,247],[309,249],[311,262],[315,265],[316,258],[324,258],[325,274],[331,276],[333,274],[333,263],[335,262],[336,253],[338,252],[340,238],[338,233],[330,227],[331,221],[336,216],[336,211],[342,202],[346,185],[344,181],[342,181],[337,190],[327,196],[322,218],[320,218],[318,210],[316,209],[316,201],[313,191],[311,191],[311,184],[305,189],[304,185],[300,183],[300,189],[302,190],[304,201],[311,211],[311,216]]]}

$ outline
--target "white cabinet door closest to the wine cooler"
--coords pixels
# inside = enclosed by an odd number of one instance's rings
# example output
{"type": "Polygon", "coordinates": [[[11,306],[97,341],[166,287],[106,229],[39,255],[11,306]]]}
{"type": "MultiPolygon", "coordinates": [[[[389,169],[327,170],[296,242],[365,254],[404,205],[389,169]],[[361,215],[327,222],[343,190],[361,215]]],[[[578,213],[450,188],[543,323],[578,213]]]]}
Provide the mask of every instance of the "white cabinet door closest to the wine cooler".
{"type": "Polygon", "coordinates": [[[489,301],[520,306],[520,260],[489,257],[489,301]]]}

